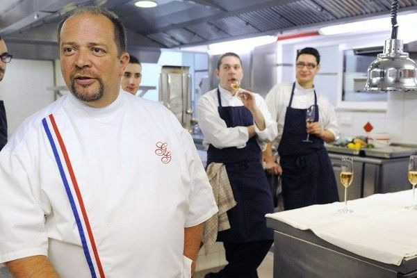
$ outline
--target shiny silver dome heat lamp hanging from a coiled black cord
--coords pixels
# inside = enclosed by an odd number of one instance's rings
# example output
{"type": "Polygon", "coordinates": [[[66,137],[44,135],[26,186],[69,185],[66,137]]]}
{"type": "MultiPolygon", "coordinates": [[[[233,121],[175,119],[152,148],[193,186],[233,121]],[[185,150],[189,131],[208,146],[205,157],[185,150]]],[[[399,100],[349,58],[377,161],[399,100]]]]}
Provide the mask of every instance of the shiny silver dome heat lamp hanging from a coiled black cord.
{"type": "Polygon", "coordinates": [[[402,40],[397,39],[398,0],[391,4],[391,38],[385,40],[384,52],[368,67],[366,91],[416,91],[417,65],[403,52],[402,40]]]}

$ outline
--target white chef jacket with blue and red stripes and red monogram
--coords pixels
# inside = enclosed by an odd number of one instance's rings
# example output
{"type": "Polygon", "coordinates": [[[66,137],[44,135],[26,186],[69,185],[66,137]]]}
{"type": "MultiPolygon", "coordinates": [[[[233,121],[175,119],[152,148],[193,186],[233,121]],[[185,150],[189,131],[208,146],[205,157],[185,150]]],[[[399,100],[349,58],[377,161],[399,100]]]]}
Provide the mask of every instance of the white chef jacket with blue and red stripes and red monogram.
{"type": "Polygon", "coordinates": [[[183,229],[218,211],[211,186],[177,118],[161,104],[128,92],[105,108],[65,95],[25,120],[3,148],[0,263],[48,255],[60,277],[91,277],[57,159],[67,183],[74,182],[49,114],[72,165],[106,277],[190,277],[183,229]]]}

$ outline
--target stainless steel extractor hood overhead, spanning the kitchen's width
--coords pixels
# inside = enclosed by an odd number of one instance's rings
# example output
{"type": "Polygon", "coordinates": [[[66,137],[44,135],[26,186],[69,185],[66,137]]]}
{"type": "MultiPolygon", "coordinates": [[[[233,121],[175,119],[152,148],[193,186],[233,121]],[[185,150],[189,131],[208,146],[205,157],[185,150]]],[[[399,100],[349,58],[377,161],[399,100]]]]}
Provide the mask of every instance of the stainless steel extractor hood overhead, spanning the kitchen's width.
{"type": "MultiPolygon", "coordinates": [[[[0,35],[26,43],[55,42],[56,24],[76,6],[101,5],[120,16],[133,47],[177,48],[249,38],[386,15],[390,0],[2,0],[0,35]],[[3,3],[6,2],[6,3],[3,3]]],[[[417,0],[399,0],[400,12],[417,0]]]]}

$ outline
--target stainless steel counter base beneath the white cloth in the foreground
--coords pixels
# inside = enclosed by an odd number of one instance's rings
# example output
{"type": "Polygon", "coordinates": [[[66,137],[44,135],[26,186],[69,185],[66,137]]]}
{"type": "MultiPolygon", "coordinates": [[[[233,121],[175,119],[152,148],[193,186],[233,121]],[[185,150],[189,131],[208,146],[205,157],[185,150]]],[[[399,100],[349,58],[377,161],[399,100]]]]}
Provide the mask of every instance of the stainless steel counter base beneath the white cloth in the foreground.
{"type": "Polygon", "coordinates": [[[310,230],[302,231],[271,218],[266,221],[275,230],[275,278],[417,277],[417,257],[404,259],[400,266],[381,263],[336,247],[310,230]]]}

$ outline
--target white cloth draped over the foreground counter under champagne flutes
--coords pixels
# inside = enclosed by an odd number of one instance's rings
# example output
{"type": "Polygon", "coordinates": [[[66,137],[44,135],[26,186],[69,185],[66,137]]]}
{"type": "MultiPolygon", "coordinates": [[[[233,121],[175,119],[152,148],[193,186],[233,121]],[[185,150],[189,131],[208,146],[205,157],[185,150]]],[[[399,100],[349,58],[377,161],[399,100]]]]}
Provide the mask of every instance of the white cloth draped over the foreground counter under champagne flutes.
{"type": "Polygon", "coordinates": [[[402,259],[417,255],[417,211],[404,208],[411,195],[411,190],[405,190],[348,201],[353,213],[338,213],[344,203],[335,202],[265,216],[297,229],[311,229],[319,238],[354,254],[400,265],[402,259]]]}

